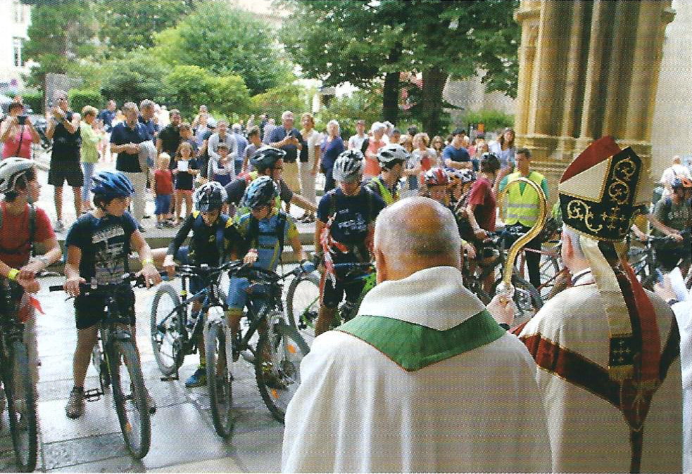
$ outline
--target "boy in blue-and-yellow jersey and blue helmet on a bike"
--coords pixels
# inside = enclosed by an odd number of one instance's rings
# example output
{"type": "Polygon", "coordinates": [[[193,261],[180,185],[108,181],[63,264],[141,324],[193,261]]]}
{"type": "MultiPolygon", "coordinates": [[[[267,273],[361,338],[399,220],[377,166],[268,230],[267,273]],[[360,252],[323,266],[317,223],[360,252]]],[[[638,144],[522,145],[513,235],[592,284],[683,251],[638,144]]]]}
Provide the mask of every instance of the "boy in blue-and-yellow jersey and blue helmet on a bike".
{"type": "MultiPolygon", "coordinates": [[[[271,177],[258,177],[245,190],[235,224],[246,245],[241,252],[244,262],[271,271],[279,265],[284,242],[291,245],[301,264],[306,262],[296,223],[293,217],[280,209],[278,196],[279,188],[271,177]]],[[[247,278],[233,277],[229,282],[226,316],[234,337],[243,317],[249,287],[247,278]]],[[[261,305],[261,301],[259,297],[253,298],[256,304],[261,305]]]]}

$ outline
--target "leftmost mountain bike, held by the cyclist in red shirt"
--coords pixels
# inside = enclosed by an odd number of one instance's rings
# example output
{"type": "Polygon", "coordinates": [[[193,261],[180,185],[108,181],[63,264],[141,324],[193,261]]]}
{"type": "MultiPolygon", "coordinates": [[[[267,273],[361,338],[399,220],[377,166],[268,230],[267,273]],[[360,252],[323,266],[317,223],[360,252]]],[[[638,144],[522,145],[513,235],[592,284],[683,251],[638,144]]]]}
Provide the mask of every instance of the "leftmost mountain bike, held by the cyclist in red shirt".
{"type": "Polygon", "coordinates": [[[17,466],[22,472],[31,472],[36,468],[38,422],[36,392],[24,342],[24,324],[18,319],[24,291],[17,283],[5,278],[0,285],[6,308],[0,314],[0,376],[17,466]]]}

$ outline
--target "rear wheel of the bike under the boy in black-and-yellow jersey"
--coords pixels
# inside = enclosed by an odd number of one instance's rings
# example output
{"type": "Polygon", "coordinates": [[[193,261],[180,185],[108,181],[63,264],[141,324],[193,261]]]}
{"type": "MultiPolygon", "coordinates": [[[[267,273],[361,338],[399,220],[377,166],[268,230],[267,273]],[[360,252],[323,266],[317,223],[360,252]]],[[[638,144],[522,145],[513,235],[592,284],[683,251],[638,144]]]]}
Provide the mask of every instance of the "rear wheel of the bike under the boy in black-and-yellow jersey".
{"type": "Polygon", "coordinates": [[[164,376],[180,369],[184,357],[177,342],[184,333],[182,312],[171,314],[179,305],[180,296],[172,286],[161,285],[156,290],[151,305],[151,347],[158,370],[164,376]]]}

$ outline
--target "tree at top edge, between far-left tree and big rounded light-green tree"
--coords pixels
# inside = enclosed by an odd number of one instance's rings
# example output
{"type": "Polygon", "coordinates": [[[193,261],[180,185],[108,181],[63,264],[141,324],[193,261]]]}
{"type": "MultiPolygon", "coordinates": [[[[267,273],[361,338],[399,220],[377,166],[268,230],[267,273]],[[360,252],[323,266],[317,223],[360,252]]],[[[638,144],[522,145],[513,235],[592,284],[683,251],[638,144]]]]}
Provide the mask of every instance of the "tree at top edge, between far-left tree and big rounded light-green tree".
{"type": "Polygon", "coordinates": [[[175,26],[190,10],[184,0],[100,1],[96,14],[106,58],[151,48],[156,32],[175,26]]]}

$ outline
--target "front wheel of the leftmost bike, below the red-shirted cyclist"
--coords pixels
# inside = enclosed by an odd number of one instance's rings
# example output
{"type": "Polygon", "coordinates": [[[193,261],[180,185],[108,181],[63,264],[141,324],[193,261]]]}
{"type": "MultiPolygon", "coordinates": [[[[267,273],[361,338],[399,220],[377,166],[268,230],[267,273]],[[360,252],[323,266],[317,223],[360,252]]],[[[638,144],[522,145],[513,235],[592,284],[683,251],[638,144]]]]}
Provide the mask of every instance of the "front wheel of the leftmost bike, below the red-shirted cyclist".
{"type": "Polygon", "coordinates": [[[4,373],[7,414],[18,470],[30,473],[36,468],[38,423],[36,393],[29,370],[29,355],[23,342],[15,340],[4,373]],[[15,383],[18,382],[18,383],[15,383]]]}

